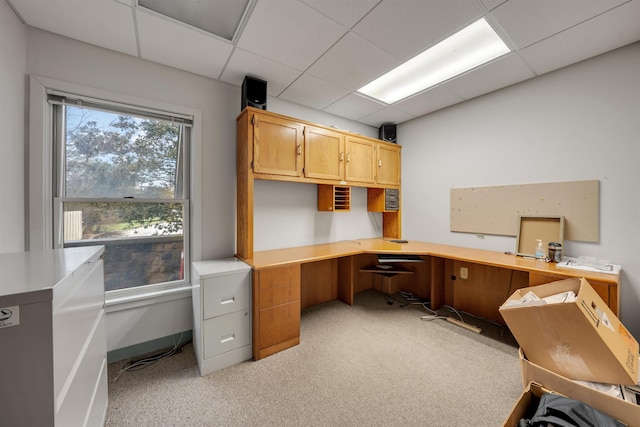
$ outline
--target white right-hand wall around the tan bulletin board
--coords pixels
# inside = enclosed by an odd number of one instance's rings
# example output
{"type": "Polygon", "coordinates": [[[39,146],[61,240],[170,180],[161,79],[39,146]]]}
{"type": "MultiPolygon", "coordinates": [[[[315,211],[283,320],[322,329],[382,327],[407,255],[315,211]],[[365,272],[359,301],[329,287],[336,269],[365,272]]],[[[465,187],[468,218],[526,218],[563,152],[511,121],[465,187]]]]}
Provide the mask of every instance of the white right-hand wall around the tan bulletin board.
{"type": "Polygon", "coordinates": [[[405,238],[514,250],[449,231],[451,188],[600,181],[600,241],[565,255],[622,265],[621,320],[640,339],[640,43],[404,123],[405,238]]]}

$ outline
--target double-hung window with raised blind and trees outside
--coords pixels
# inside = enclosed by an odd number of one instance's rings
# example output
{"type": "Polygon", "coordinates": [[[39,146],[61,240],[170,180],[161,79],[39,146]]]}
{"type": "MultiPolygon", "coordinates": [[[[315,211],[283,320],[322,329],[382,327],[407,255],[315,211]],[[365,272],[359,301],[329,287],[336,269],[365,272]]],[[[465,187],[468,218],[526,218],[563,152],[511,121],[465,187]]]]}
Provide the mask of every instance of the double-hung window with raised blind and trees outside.
{"type": "Polygon", "coordinates": [[[105,290],[188,281],[191,118],[49,94],[54,246],[104,245],[105,290]]]}

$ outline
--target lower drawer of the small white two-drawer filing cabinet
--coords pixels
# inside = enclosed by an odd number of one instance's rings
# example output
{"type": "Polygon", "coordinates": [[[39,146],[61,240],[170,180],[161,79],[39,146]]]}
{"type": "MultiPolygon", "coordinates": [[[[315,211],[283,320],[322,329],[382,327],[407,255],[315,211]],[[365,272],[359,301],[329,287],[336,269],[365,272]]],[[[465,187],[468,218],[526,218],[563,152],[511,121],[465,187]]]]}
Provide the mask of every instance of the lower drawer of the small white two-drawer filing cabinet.
{"type": "Polygon", "coordinates": [[[204,358],[251,344],[249,309],[204,321],[204,358]]]}

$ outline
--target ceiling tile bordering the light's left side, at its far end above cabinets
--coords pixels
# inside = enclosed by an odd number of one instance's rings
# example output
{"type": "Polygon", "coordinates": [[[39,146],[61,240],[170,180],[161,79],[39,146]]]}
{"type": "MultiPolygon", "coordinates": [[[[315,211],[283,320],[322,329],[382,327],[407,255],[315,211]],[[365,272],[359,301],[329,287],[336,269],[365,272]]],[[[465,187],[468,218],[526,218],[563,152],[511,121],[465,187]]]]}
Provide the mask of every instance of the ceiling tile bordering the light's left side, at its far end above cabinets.
{"type": "Polygon", "coordinates": [[[399,64],[360,36],[349,33],[313,64],[307,73],[350,90],[358,90],[399,64]]]}

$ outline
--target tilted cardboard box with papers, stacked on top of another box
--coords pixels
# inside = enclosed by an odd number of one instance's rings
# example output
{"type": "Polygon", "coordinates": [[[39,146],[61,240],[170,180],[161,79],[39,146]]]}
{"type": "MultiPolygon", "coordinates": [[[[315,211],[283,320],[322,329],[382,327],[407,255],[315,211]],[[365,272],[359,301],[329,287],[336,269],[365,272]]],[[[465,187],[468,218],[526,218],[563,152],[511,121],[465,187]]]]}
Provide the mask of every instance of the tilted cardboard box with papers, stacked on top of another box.
{"type": "Polygon", "coordinates": [[[572,380],[636,384],[638,342],[585,279],[519,289],[500,307],[528,360],[572,380]],[[573,291],[574,302],[509,305],[573,291]]]}

